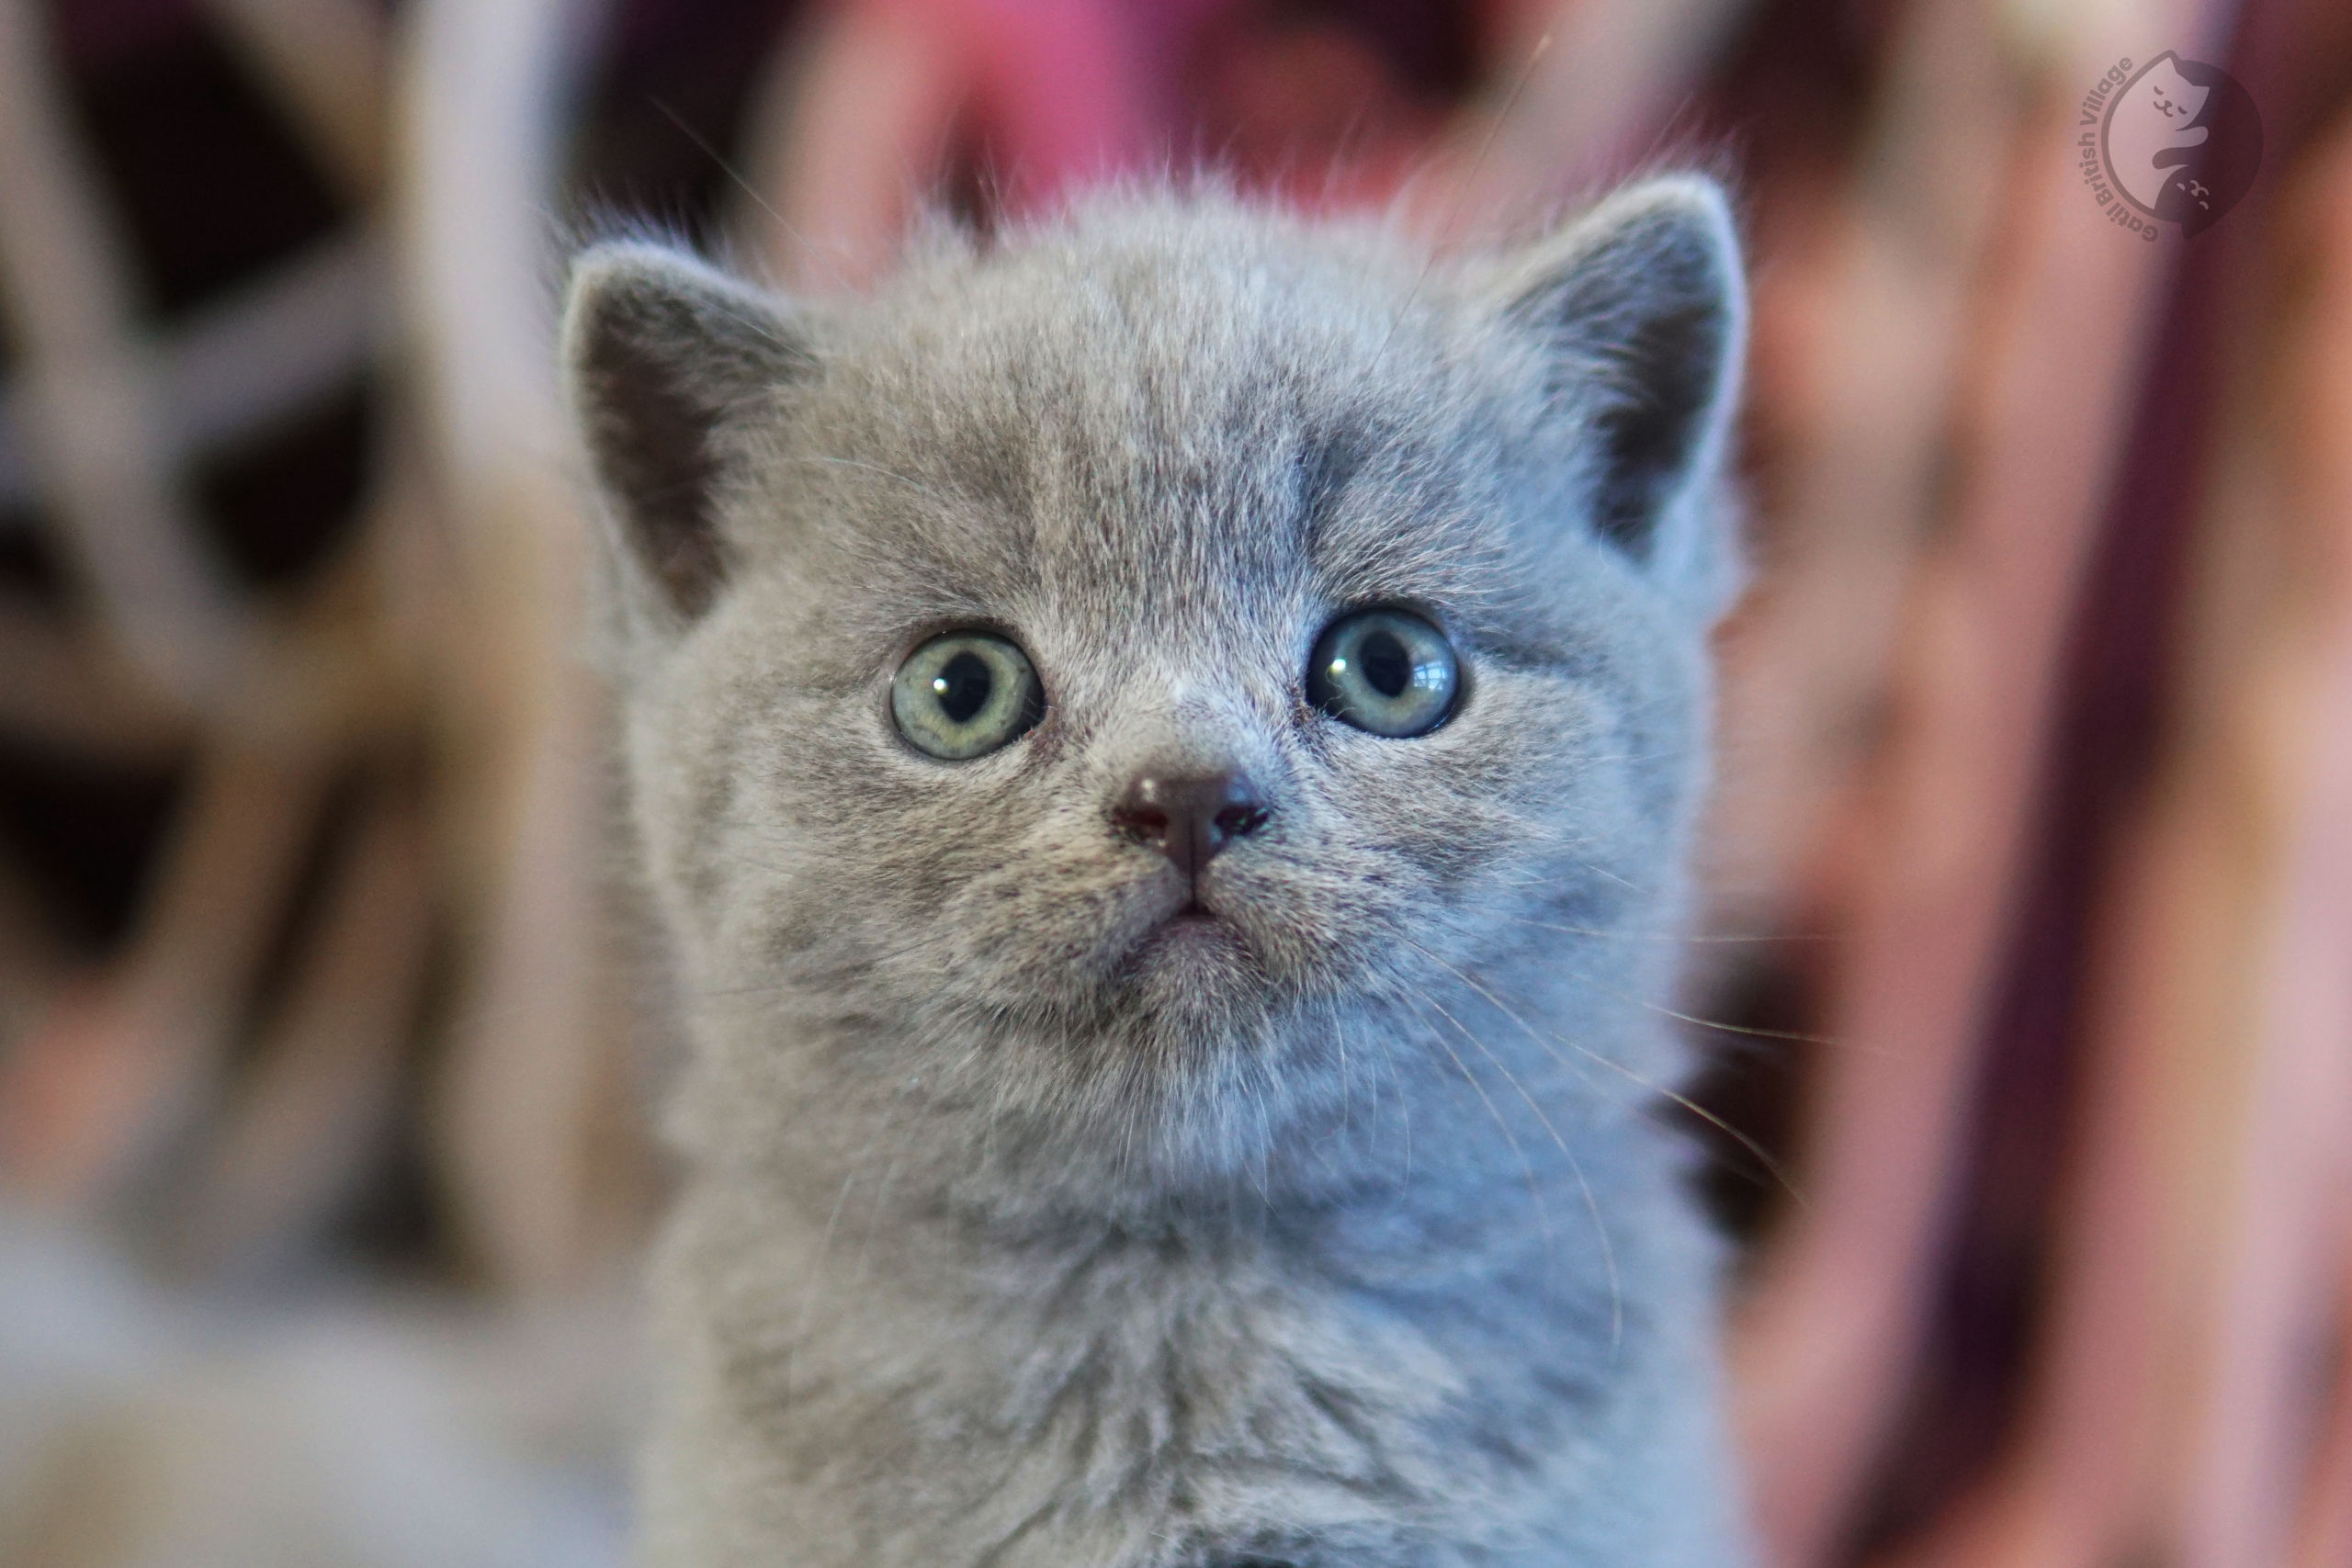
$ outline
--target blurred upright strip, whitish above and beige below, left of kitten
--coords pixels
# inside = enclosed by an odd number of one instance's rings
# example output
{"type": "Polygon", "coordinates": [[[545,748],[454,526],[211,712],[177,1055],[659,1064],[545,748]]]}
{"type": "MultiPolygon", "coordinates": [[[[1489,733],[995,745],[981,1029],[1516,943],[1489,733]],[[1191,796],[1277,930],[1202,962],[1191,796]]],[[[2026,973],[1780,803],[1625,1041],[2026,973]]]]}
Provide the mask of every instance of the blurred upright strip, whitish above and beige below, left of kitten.
{"type": "Polygon", "coordinates": [[[597,1168],[607,1098],[628,1081],[626,1011],[602,957],[602,696],[579,656],[588,536],[555,407],[557,256],[541,216],[595,12],[421,0],[395,96],[419,388],[473,630],[435,670],[437,827],[480,969],[430,1138],[468,1241],[527,1295],[614,1262],[635,1218],[597,1168]]]}

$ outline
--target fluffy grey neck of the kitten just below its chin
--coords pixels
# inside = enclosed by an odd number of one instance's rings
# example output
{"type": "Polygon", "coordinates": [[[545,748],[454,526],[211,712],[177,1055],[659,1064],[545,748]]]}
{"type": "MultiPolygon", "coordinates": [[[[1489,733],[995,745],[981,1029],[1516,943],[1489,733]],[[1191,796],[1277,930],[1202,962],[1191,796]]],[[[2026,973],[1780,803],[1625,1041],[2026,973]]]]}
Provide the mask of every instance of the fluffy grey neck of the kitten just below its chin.
{"type": "Polygon", "coordinates": [[[1477,992],[1437,1001],[1428,1020],[1291,1041],[1341,1060],[1338,1072],[1256,1063],[1157,1105],[1016,1100],[981,1077],[1007,1056],[995,1037],[950,1051],[873,1020],[771,1020],[708,1041],[677,1131],[696,1164],[804,1208],[863,1185],[880,1222],[1014,1248],[1077,1234],[1305,1234],[1364,1213],[1454,1222],[1461,1204],[1498,1192],[1581,1211],[1595,1166],[1665,1140],[1642,1117],[1639,1063],[1661,1056],[1653,1020],[1595,1006],[1566,1048],[1477,992]],[[1609,1023],[1616,1048],[1588,1044],[1609,1023]],[[889,1072],[894,1060],[924,1065],[889,1072]],[[974,1063],[974,1079],[943,1060],[974,1063]],[[774,1088],[783,1081],[790,1095],[774,1088]],[[1322,1093],[1284,1093],[1284,1081],[1322,1093]]]}

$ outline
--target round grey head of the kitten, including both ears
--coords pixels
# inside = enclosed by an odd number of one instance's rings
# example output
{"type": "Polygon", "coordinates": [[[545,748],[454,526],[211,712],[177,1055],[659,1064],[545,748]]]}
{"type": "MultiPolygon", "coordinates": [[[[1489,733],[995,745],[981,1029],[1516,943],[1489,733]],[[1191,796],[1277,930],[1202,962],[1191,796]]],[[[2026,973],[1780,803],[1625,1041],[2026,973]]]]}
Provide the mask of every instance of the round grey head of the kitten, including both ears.
{"type": "Polygon", "coordinates": [[[1214,1140],[1463,985],[1590,978],[1569,931],[1675,903],[1743,327],[1696,179],[1477,263],[1174,195],[837,306],[583,254],[706,1048],[1214,1140]]]}

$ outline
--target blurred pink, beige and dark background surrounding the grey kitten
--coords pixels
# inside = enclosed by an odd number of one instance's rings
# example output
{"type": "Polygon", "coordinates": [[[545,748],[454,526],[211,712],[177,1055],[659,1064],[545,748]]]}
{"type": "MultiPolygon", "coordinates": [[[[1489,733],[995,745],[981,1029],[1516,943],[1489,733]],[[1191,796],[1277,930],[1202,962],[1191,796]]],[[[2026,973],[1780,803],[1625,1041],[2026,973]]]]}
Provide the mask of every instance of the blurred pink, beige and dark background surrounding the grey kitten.
{"type": "Polygon", "coordinates": [[[2343,0],[0,0],[0,1566],[619,1563],[661,973],[560,235],[1740,190],[1684,1027],[1771,1568],[2352,1568],[2343,0]],[[2263,120],[2119,228],[2082,101],[2263,120]]]}

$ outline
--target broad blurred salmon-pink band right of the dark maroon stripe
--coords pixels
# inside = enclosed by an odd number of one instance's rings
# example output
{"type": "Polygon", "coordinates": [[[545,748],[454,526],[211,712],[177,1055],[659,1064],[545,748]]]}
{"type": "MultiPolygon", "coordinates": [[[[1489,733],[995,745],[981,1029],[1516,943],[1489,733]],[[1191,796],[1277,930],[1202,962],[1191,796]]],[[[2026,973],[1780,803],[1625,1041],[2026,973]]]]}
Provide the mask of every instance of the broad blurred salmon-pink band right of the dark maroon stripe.
{"type": "Polygon", "coordinates": [[[2105,898],[2037,1382],[2002,1469],[1905,1563],[2288,1561],[2352,1187],[2345,195],[2352,160],[2216,306],[2171,750],[2105,898]]]}

